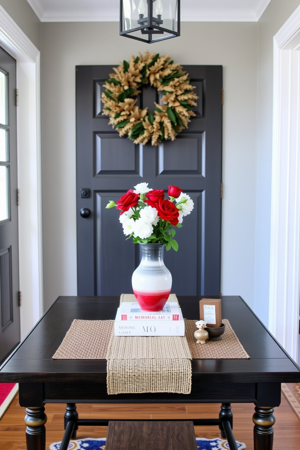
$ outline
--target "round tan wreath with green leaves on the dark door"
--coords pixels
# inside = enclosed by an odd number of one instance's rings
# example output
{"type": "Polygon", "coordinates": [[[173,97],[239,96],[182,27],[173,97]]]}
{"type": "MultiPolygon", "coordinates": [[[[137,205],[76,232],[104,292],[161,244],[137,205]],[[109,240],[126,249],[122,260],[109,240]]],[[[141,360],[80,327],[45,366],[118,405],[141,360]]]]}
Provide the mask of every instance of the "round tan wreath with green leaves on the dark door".
{"type": "Polygon", "coordinates": [[[110,117],[109,123],[116,128],[120,136],[127,135],[134,144],[152,145],[172,139],[180,131],[188,128],[190,117],[195,116],[193,106],[198,97],[195,86],[189,84],[188,73],[182,66],[170,60],[168,55],[139,54],[131,56],[129,63],[123,61],[114,67],[103,87],[103,114],[110,117]],[[155,103],[154,114],[140,109],[136,96],[141,92],[141,84],[148,84],[163,93],[161,104],[155,103]]]}

